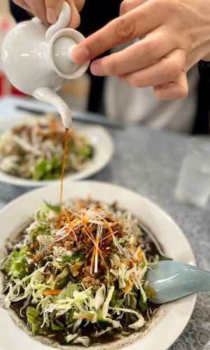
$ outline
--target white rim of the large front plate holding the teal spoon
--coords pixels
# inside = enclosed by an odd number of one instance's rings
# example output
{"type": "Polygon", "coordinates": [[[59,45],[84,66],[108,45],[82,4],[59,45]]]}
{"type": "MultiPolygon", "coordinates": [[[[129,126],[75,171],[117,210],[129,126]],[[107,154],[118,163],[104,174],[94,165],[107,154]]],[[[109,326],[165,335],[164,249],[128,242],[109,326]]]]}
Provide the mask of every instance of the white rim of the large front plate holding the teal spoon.
{"type": "MultiPolygon", "coordinates": [[[[71,198],[85,198],[107,202],[118,202],[118,207],[127,209],[138,216],[142,223],[151,228],[165,253],[174,260],[195,265],[193,251],[186,237],[162,209],[149,200],[130,190],[108,183],[83,181],[65,183],[64,201],[71,198]]],[[[42,200],[56,204],[59,200],[59,186],[50,186],[34,190],[8,204],[0,212],[0,248],[4,241],[29,219],[42,200]]],[[[184,297],[182,300],[162,305],[156,317],[153,318],[146,332],[142,335],[132,335],[124,342],[119,340],[113,344],[115,349],[127,350],[165,350],[171,346],[186,327],[195,305],[196,295],[184,297]]],[[[0,349],[1,350],[49,350],[50,347],[37,342],[11,320],[8,310],[0,308],[0,349]]],[[[87,349],[110,349],[105,346],[90,346],[87,349]]],[[[84,349],[80,346],[62,347],[62,349],[84,349]]]]}

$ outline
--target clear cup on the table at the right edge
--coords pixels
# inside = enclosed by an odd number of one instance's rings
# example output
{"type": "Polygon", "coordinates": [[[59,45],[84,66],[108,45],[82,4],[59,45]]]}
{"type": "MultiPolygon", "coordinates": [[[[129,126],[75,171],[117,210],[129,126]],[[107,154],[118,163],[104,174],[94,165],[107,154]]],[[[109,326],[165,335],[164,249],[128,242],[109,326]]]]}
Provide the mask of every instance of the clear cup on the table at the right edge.
{"type": "Polygon", "coordinates": [[[210,137],[192,137],[179,174],[176,198],[204,207],[210,196],[210,137]]]}

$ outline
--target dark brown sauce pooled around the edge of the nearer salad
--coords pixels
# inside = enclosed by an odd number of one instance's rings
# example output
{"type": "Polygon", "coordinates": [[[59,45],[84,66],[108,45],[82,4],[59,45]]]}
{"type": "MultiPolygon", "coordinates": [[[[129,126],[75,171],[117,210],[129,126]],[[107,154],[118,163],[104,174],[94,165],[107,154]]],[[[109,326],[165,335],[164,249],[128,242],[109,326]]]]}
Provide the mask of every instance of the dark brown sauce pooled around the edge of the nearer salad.
{"type": "MultiPolygon", "coordinates": [[[[143,231],[143,230],[142,230],[143,231]]],[[[157,249],[157,247],[155,246],[155,244],[153,243],[153,241],[151,241],[151,239],[148,237],[148,235],[146,235],[146,233],[144,232],[144,237],[146,237],[146,246],[144,246],[143,248],[147,248],[147,257],[148,258],[152,258],[155,256],[160,256],[160,253],[157,249]]],[[[19,318],[22,319],[22,321],[24,321],[27,324],[27,318],[25,316],[25,310],[22,311],[22,314],[24,315],[24,317],[21,316],[20,314],[20,309],[23,306],[24,301],[20,301],[20,302],[13,302],[11,304],[11,308],[15,311],[15,313],[18,315],[19,318]]],[[[147,301],[147,306],[148,309],[150,309],[151,313],[150,313],[150,317],[153,316],[153,311],[155,311],[155,309],[158,309],[157,304],[153,304],[153,302],[147,301]]],[[[142,316],[144,316],[144,318],[147,317],[147,310],[145,310],[144,312],[141,311],[142,316]]],[[[121,323],[123,324],[123,330],[125,332],[130,332],[130,334],[132,332],[137,332],[137,330],[131,330],[131,328],[128,328],[125,320],[121,321],[121,323]],[[124,322],[124,324],[123,324],[124,322]]],[[[28,324],[27,324],[28,326],[28,324]]],[[[93,325],[92,323],[90,323],[87,326],[81,326],[80,327],[80,331],[81,331],[81,336],[87,336],[90,338],[90,345],[96,345],[96,344],[107,344],[109,342],[113,342],[114,340],[119,339],[120,335],[121,335],[121,330],[117,330],[115,329],[113,332],[106,332],[104,335],[101,335],[100,337],[94,337],[94,333],[96,331],[96,325],[93,325]]],[[[71,328],[69,329],[69,332],[71,333],[71,328]]],[[[50,337],[50,339],[55,340],[55,342],[61,342],[62,339],[69,334],[69,332],[67,330],[54,330],[52,331],[51,329],[45,330],[45,334],[43,334],[43,336],[45,337],[50,337]],[[56,332],[56,334],[55,334],[56,332]]],[[[122,336],[122,335],[121,335],[122,336]]],[[[126,337],[126,336],[125,336],[126,337]]],[[[68,344],[68,346],[71,346],[71,343],[68,344]]]]}

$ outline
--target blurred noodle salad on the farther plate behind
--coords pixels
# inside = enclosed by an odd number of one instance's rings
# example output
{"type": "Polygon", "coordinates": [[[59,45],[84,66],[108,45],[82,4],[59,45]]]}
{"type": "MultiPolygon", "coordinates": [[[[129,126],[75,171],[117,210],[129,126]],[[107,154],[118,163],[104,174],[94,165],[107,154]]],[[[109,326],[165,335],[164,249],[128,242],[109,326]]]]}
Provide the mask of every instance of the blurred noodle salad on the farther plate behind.
{"type": "MultiPolygon", "coordinates": [[[[0,170],[34,181],[59,179],[65,129],[56,116],[29,120],[0,134],[0,170]]],[[[66,153],[66,174],[83,169],[93,155],[90,142],[71,130],[66,153]]]]}

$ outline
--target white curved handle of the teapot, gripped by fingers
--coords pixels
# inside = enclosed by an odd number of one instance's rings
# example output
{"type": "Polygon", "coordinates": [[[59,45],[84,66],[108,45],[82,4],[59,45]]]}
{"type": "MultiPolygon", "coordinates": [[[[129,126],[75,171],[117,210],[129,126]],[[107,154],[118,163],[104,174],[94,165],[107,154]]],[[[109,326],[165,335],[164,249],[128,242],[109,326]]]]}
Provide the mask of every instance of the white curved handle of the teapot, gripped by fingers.
{"type": "Polygon", "coordinates": [[[71,8],[69,6],[69,3],[64,1],[62,11],[59,14],[59,18],[55,25],[51,25],[48,31],[46,31],[45,37],[50,39],[52,36],[57,33],[60,29],[64,29],[69,25],[69,22],[71,20],[71,8]]]}

